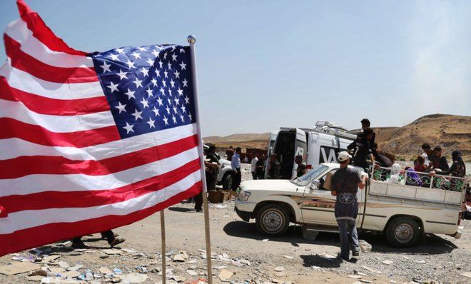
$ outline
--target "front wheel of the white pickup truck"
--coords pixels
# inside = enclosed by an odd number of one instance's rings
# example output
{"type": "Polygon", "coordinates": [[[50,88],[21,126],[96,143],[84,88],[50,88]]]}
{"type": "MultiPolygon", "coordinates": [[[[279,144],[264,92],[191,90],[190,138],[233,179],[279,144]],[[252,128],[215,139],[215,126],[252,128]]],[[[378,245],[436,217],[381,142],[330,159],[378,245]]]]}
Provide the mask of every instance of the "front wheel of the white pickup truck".
{"type": "Polygon", "coordinates": [[[255,216],[255,225],[263,235],[278,237],[286,233],[290,225],[288,211],[278,204],[268,204],[260,208],[255,216]]]}

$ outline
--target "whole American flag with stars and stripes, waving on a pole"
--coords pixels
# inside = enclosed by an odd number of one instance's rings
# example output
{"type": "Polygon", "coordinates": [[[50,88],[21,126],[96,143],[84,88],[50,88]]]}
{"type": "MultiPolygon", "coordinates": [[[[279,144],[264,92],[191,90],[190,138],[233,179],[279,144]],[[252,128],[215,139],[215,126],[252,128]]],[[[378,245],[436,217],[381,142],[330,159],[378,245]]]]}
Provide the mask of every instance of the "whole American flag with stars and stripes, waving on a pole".
{"type": "Polygon", "coordinates": [[[67,46],[17,1],[0,69],[0,255],[136,222],[201,191],[188,46],[67,46]]]}

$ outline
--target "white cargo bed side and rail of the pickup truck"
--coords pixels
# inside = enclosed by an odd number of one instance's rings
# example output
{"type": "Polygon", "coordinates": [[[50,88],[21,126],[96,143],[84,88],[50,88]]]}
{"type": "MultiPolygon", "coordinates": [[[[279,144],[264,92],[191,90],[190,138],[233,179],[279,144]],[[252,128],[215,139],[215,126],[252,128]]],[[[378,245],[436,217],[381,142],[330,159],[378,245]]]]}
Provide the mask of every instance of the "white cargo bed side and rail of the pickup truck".
{"type": "Polygon", "coordinates": [[[461,205],[466,194],[465,178],[429,176],[409,170],[397,173],[391,168],[375,168],[368,193],[375,196],[461,205]],[[393,174],[392,174],[393,173],[393,174]]]}

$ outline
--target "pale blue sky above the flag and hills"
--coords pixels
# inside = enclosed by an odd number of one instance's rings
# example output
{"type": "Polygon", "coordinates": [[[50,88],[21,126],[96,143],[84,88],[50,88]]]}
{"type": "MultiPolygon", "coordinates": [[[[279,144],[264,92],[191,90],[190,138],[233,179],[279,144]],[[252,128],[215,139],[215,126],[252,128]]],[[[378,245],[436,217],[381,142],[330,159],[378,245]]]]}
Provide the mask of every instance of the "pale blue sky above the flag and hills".
{"type": "Polygon", "coordinates": [[[471,115],[471,1],[26,1],[83,51],[195,34],[203,136],[471,115]]]}

